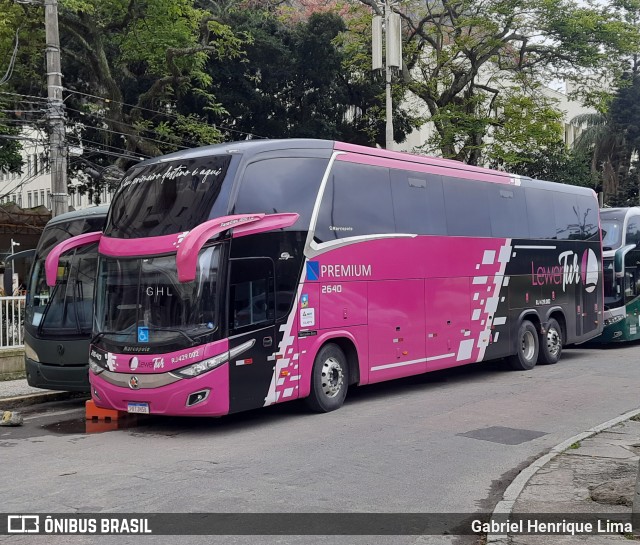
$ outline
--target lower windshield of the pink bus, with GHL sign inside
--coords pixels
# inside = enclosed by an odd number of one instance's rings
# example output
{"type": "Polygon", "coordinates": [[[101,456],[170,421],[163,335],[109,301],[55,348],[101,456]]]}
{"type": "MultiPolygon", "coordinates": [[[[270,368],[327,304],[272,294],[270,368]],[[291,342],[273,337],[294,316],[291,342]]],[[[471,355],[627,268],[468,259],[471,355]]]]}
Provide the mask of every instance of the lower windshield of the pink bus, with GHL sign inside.
{"type": "Polygon", "coordinates": [[[118,344],[207,342],[219,325],[220,246],[200,252],[194,282],[178,281],[175,260],[101,256],[95,330],[118,344]]]}

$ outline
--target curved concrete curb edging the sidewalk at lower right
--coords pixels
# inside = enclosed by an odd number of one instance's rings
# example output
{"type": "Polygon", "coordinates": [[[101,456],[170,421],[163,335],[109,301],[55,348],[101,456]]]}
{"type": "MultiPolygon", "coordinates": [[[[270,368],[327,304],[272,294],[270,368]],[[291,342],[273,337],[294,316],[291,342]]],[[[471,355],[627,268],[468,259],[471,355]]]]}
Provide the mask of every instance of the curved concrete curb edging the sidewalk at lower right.
{"type": "MultiPolygon", "coordinates": [[[[607,420],[602,424],[598,424],[593,428],[588,429],[582,433],[574,435],[562,443],[559,443],[555,447],[553,447],[547,454],[541,456],[534,462],[532,462],[528,467],[523,469],[518,476],[511,482],[511,484],[506,488],[504,493],[502,494],[502,500],[500,500],[496,506],[493,508],[493,512],[491,513],[491,518],[496,518],[497,515],[510,515],[513,506],[516,503],[516,500],[524,490],[524,487],[527,486],[529,480],[538,472],[538,470],[542,469],[545,465],[547,465],[551,460],[553,460],[556,456],[559,456],[563,452],[565,452],[571,445],[577,443],[578,441],[582,441],[587,439],[588,437],[592,437],[604,430],[612,428],[616,424],[620,424],[621,422],[625,422],[630,418],[640,414],[640,408],[633,409],[624,413],[623,415],[617,416],[616,418],[612,418],[611,420],[607,420]]],[[[487,534],[486,545],[508,545],[509,536],[504,534],[487,534]]]]}

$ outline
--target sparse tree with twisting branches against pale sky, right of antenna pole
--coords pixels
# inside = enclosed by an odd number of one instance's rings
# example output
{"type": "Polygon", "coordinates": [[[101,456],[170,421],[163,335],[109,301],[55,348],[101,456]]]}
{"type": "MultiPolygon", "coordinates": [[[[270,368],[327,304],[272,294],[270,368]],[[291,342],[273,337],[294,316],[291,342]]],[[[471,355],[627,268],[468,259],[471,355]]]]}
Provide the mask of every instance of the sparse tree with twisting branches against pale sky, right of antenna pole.
{"type": "Polygon", "coordinates": [[[581,79],[638,43],[637,28],[607,6],[571,0],[404,0],[394,9],[404,21],[404,77],[435,130],[427,149],[471,164],[486,159],[494,130],[517,123],[504,119],[505,95],[544,109],[541,83],[581,79]]]}

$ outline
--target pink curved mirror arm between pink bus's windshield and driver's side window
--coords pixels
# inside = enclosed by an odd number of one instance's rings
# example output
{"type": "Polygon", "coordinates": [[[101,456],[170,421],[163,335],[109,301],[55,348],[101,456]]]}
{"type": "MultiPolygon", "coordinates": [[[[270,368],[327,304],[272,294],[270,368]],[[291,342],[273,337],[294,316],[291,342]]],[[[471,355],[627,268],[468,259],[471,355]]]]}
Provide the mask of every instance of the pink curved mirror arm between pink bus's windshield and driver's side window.
{"type": "Polygon", "coordinates": [[[212,219],[189,231],[178,248],[176,268],[178,281],[193,282],[196,278],[198,254],[207,240],[218,233],[233,229],[233,236],[263,233],[289,227],[298,221],[298,214],[238,214],[212,219]]]}

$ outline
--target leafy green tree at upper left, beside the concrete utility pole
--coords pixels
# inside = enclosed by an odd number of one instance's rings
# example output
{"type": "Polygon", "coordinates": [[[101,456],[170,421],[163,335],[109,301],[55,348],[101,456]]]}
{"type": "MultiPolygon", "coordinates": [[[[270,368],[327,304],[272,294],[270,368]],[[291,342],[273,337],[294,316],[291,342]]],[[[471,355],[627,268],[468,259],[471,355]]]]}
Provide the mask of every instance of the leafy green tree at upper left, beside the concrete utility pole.
{"type": "MultiPolygon", "coordinates": [[[[21,9],[24,21],[42,26],[40,8],[21,9]]],[[[68,139],[83,150],[70,163],[96,202],[114,163],[121,172],[141,158],[219,141],[200,115],[221,110],[204,67],[210,56],[238,57],[241,35],[191,0],[66,0],[59,21],[68,139]],[[183,107],[189,96],[198,109],[183,107]]],[[[35,33],[30,43],[35,64],[44,39],[35,33]]],[[[11,89],[44,96],[43,74],[16,77],[11,89]]]]}

